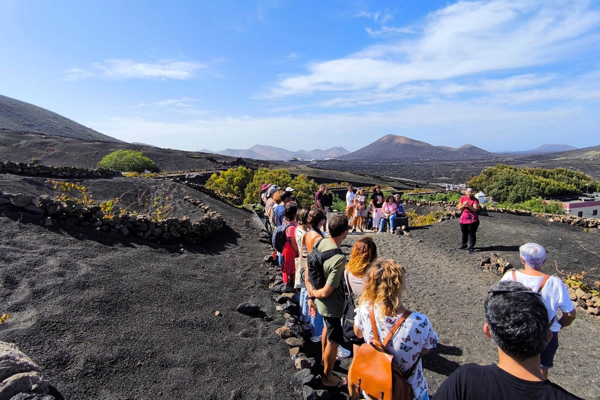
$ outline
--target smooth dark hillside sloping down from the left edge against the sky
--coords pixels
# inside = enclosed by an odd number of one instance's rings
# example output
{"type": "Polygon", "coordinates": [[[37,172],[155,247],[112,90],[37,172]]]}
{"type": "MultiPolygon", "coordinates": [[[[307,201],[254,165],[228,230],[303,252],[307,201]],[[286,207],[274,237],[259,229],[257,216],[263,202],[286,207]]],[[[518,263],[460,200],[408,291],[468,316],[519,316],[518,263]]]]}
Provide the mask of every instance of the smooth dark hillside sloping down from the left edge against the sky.
{"type": "Polygon", "coordinates": [[[125,143],[77,124],[50,110],[2,95],[0,95],[0,128],[98,142],[125,143]]]}

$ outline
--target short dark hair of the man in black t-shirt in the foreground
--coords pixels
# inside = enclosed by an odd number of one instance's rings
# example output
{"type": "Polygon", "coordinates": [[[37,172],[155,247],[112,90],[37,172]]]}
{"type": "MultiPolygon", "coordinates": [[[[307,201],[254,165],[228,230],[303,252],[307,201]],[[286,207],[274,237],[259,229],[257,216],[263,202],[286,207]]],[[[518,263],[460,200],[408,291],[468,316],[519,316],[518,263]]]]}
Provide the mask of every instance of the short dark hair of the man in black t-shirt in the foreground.
{"type": "Polygon", "coordinates": [[[496,282],[491,290],[509,290],[489,293],[484,302],[485,322],[496,345],[518,360],[542,353],[550,329],[542,297],[513,281],[496,282]]]}

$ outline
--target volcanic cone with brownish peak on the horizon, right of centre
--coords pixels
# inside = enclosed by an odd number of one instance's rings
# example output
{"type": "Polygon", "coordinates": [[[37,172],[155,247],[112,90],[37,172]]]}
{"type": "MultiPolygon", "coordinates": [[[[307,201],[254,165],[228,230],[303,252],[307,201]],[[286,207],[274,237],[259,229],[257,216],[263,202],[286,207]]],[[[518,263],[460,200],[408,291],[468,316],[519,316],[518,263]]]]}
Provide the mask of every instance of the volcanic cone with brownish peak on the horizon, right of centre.
{"type": "Polygon", "coordinates": [[[387,135],[340,158],[357,161],[466,161],[497,158],[497,156],[473,145],[464,145],[455,149],[448,146],[433,146],[409,137],[387,135]]]}

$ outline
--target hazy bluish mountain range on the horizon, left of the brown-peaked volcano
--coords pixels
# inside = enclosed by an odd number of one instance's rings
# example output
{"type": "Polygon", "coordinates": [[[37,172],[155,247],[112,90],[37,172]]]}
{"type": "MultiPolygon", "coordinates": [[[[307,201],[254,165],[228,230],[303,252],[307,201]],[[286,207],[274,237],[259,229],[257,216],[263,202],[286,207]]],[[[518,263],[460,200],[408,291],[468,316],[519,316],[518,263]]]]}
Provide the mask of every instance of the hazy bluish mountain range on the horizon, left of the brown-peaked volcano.
{"type": "Polygon", "coordinates": [[[254,158],[254,160],[292,160],[292,158],[301,158],[304,160],[323,160],[324,158],[338,158],[341,155],[349,154],[349,151],[342,147],[334,147],[327,150],[299,150],[289,151],[273,146],[256,145],[250,149],[225,149],[217,152],[208,149],[202,149],[201,152],[228,155],[230,157],[254,158]]]}

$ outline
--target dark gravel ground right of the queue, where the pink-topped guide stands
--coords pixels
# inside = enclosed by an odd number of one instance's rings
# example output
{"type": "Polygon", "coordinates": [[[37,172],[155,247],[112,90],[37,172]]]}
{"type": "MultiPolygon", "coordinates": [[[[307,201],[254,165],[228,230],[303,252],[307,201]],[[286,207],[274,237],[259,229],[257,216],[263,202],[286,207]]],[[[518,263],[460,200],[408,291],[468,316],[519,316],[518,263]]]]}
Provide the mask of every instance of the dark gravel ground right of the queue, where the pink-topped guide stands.
{"type": "MultiPolygon", "coordinates": [[[[460,241],[457,220],[415,229],[410,236],[365,233],[373,237],[380,257],[394,258],[407,269],[409,288],[405,302],[411,309],[428,315],[440,335],[439,347],[424,357],[424,369],[430,395],[442,381],[464,363],[497,362],[497,348],[482,332],[483,302],[488,288],[500,278],[476,267],[476,261],[489,251],[468,254],[456,249],[460,241]]],[[[350,234],[343,243],[345,252],[363,234],[350,234]]],[[[539,218],[491,214],[482,218],[478,245],[517,264],[518,246],[536,241],[548,249],[548,261],[557,260],[581,270],[600,265],[600,258],[579,250],[578,243],[597,246],[598,239],[570,225],[548,227],[539,218]],[[562,240],[558,240],[559,237],[562,240]],[[553,243],[554,242],[554,243],[553,243]]],[[[588,247],[590,248],[590,247],[588,247]]],[[[517,264],[518,265],[518,264],[517,264]]],[[[554,263],[548,273],[553,273],[554,263]]],[[[560,347],[550,379],[586,399],[600,399],[600,318],[583,312],[560,333],[560,347]]],[[[344,372],[349,365],[343,360],[338,367],[344,372]]],[[[343,398],[340,396],[338,398],[343,398]]]]}

